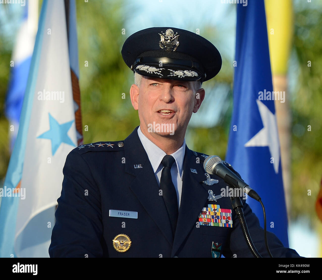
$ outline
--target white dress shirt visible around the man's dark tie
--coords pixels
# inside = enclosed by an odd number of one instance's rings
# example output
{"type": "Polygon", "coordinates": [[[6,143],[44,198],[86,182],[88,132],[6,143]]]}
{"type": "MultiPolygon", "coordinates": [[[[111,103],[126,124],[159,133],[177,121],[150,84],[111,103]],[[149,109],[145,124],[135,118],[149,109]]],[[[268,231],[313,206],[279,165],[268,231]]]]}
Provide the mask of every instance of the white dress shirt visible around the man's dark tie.
{"type": "MultiPolygon", "coordinates": [[[[156,181],[160,187],[160,178],[163,165],[162,159],[166,155],[165,151],[161,150],[156,144],[149,140],[141,131],[139,127],[137,134],[141,140],[144,150],[147,152],[147,156],[151,162],[156,181]]],[[[175,185],[175,191],[177,193],[178,209],[180,208],[181,191],[182,191],[182,175],[183,175],[183,159],[185,157],[185,140],[182,146],[176,150],[171,156],[174,157],[175,163],[171,167],[172,182],[175,185]]]]}

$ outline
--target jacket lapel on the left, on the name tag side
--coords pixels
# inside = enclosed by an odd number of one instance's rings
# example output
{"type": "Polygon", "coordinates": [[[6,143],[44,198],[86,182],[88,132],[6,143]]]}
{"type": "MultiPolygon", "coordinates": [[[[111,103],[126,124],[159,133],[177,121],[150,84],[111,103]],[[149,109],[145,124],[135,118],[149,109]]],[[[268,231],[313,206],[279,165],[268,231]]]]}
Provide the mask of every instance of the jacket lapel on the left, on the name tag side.
{"type": "Polygon", "coordinates": [[[166,205],[159,195],[159,186],[137,128],[124,140],[125,172],[136,177],[130,188],[172,246],[173,234],[166,205]],[[142,168],[134,168],[138,164],[142,168]]]}

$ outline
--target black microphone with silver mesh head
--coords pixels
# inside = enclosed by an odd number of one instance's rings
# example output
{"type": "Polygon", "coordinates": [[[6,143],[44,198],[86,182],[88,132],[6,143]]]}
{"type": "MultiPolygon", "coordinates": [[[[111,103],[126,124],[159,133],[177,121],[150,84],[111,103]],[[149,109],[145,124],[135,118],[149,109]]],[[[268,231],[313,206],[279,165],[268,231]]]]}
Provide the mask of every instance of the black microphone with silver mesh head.
{"type": "Polygon", "coordinates": [[[220,157],[208,156],[204,159],[204,170],[208,174],[217,175],[223,179],[228,185],[234,188],[242,188],[251,198],[260,201],[260,196],[241,178],[239,178],[232,170],[227,168],[220,157]]]}

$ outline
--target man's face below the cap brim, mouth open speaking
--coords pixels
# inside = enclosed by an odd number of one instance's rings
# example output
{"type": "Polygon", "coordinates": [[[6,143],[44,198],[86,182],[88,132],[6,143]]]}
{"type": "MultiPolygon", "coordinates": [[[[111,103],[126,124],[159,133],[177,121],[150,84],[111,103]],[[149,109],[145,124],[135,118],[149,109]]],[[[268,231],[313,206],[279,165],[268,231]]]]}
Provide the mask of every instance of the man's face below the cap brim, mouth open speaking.
{"type": "Polygon", "coordinates": [[[144,134],[173,135],[181,139],[185,136],[192,112],[198,111],[203,99],[204,89],[194,89],[194,82],[143,76],[139,87],[131,87],[132,105],[138,110],[144,134]],[[158,124],[169,127],[170,131],[158,131],[158,124]]]}

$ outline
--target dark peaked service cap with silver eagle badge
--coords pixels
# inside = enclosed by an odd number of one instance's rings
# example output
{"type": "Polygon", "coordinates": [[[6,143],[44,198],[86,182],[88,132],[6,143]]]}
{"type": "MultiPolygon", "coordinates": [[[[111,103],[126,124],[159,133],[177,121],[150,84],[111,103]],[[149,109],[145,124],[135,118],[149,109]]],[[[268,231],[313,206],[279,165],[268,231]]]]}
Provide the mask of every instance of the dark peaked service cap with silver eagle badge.
{"type": "Polygon", "coordinates": [[[129,36],[122,47],[128,67],[143,76],[202,82],[221,69],[217,48],[204,37],[175,27],[151,27],[129,36]]]}

